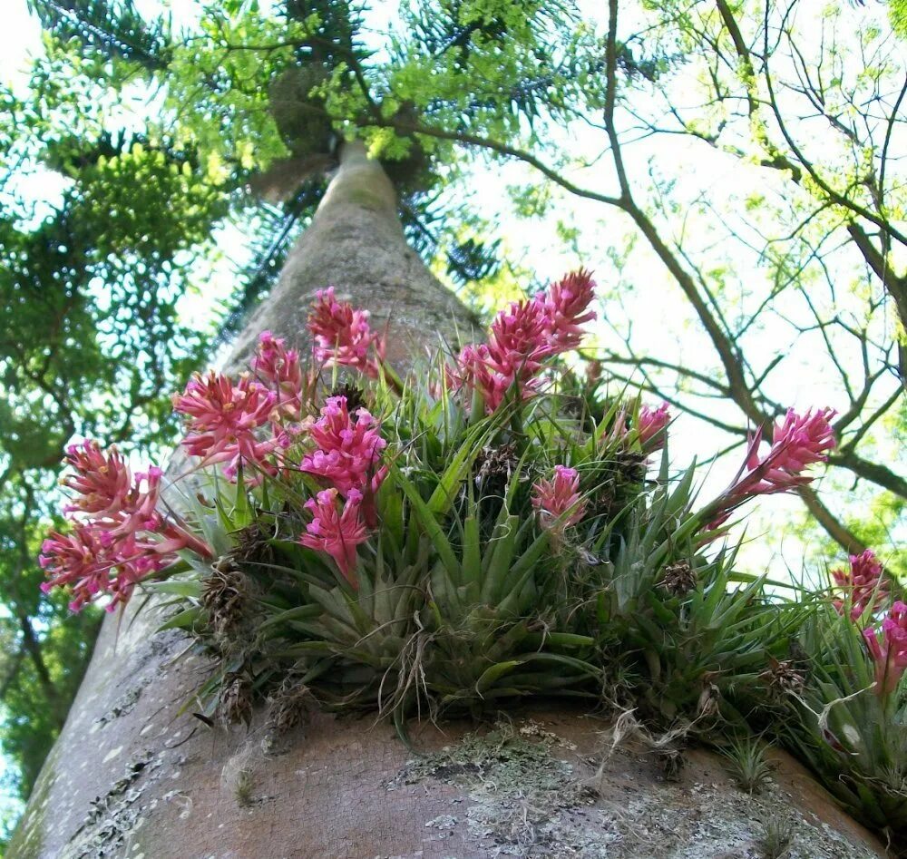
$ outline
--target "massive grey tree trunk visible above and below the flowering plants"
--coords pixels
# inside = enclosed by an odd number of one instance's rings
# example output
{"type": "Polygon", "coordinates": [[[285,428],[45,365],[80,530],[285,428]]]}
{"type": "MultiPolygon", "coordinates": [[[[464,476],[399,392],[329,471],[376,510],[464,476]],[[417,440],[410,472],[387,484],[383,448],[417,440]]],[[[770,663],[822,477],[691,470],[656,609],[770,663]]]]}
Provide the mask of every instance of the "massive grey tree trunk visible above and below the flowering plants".
{"type": "MultiPolygon", "coordinates": [[[[406,246],[394,190],[355,144],[230,366],[245,364],[264,329],[304,346],[307,307],[327,285],[370,308],[374,327],[386,320],[397,366],[471,326],[406,246]]],[[[180,712],[207,667],[180,633],[155,634],[160,615],[139,601],[103,624],[8,859],[692,859],[747,855],[772,819],[790,823],[804,856],[881,855],[792,763],[768,799],[736,791],[705,754],[668,782],[644,750],[604,755],[606,726],[562,707],[484,739],[470,726],[421,727],[429,757],[374,717],[314,714],[278,754],[255,722],[228,732],[180,712]]]]}

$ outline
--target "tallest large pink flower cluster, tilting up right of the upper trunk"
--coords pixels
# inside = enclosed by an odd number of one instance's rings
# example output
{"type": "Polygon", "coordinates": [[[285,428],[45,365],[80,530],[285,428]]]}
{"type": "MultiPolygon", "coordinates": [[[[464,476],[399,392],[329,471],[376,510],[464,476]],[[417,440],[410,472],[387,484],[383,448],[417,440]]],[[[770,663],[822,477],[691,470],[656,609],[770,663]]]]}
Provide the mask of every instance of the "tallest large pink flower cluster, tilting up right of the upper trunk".
{"type": "Polygon", "coordinates": [[[589,310],[595,283],[580,270],[535,298],[513,302],[492,322],[487,344],[463,347],[447,371],[454,391],[477,391],[493,412],[516,388],[522,398],[538,388],[542,362],[580,345],[580,326],[595,318],[589,310]]]}

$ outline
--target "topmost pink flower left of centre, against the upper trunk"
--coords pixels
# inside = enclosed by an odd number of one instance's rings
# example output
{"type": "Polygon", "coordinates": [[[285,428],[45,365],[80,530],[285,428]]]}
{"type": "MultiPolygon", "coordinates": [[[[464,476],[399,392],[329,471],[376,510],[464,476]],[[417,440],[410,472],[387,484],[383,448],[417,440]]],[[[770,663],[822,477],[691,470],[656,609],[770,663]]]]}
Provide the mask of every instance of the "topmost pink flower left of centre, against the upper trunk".
{"type": "Polygon", "coordinates": [[[385,343],[368,326],[368,311],[354,310],[346,301],[334,298],[334,288],[320,289],[308,315],[308,330],[315,338],[315,357],[327,366],[352,366],[360,373],[378,377],[384,360],[385,343]],[[368,356],[374,347],[378,360],[368,356]]]}

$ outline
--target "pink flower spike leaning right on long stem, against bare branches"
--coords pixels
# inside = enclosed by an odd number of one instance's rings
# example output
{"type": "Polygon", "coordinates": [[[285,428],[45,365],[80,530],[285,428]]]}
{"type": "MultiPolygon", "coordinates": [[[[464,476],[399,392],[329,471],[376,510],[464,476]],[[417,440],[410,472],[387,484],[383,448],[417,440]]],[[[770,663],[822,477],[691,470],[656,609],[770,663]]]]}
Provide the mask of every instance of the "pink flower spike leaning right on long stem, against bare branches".
{"type": "Polygon", "coordinates": [[[810,409],[797,415],[788,409],[785,420],[775,425],[771,449],[759,455],[761,428],[750,438],[746,460],[726,492],[710,506],[713,514],[707,529],[727,522],[731,513],[756,495],[786,493],[810,483],[813,478],[804,474],[807,465],[824,462],[828,451],[834,449],[834,429],[830,423],[834,409],[817,412],[810,409]]]}

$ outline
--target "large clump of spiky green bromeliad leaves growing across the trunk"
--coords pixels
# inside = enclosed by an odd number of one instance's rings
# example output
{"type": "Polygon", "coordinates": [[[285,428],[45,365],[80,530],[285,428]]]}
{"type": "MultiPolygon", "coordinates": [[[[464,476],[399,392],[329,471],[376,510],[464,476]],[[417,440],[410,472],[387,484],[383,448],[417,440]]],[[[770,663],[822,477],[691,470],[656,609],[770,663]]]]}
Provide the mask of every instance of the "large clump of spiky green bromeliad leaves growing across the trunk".
{"type": "Polygon", "coordinates": [[[172,597],[166,626],[216,659],[203,712],[243,717],[237,700],[291,682],[321,706],[400,725],[540,695],[632,702],[649,724],[686,730],[742,723],[734,701],[762,687],[795,612],[735,572],[735,552],[701,548],[692,470],[672,478],[665,454],[648,481],[636,435],[612,432],[619,400],[595,386],[578,395],[571,373],[476,417],[430,393],[442,372],[426,368],[399,397],[366,393],[389,471],[356,586],[297,542],[310,476],[194,478],[211,499],[194,517],[219,561],[211,571],[189,556],[192,571],[148,587],[172,597]],[[587,504],[566,532],[542,527],[532,505],[555,464],[577,470],[587,504]],[[684,565],[688,587],[666,589],[684,565]]]}

